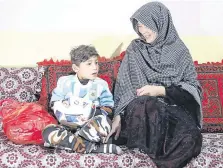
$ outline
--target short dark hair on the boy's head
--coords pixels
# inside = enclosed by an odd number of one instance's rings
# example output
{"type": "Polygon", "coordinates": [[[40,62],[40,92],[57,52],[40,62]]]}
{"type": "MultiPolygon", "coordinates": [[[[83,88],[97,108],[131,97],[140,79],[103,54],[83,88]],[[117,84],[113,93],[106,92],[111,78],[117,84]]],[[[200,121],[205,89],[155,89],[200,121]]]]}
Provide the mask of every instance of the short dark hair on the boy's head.
{"type": "Polygon", "coordinates": [[[95,47],[90,45],[80,45],[70,51],[71,62],[77,66],[79,66],[81,62],[85,62],[95,56],[98,57],[99,54],[95,47]]]}

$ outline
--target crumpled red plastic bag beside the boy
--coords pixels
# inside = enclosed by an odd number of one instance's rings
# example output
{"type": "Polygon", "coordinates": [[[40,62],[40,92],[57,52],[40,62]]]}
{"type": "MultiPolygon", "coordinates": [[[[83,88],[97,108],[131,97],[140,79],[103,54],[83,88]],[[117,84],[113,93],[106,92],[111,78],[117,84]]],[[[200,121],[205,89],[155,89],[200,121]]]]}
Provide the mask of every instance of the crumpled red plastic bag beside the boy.
{"type": "Polygon", "coordinates": [[[57,121],[37,103],[0,101],[3,131],[16,144],[42,144],[42,130],[57,121]]]}

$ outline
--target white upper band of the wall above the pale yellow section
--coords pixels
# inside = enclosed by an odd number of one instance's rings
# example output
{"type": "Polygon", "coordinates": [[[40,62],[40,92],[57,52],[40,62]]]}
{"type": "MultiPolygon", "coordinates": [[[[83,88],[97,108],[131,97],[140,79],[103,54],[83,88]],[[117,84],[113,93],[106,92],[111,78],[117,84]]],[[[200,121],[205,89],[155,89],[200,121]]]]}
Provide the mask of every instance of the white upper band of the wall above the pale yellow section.
{"type": "MultiPolygon", "coordinates": [[[[148,0],[0,0],[0,30],[134,33],[130,16],[148,0]]],[[[223,0],[161,0],[182,35],[223,34],[223,0]]]]}

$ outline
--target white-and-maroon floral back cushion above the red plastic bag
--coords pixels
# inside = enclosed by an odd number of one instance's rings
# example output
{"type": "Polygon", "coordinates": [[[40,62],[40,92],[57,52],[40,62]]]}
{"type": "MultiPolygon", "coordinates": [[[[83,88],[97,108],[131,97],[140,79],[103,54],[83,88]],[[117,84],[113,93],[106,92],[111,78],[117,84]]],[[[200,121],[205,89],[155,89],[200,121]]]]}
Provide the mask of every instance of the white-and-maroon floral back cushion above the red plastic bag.
{"type": "Polygon", "coordinates": [[[41,90],[43,68],[0,68],[0,99],[34,102],[41,90]]]}

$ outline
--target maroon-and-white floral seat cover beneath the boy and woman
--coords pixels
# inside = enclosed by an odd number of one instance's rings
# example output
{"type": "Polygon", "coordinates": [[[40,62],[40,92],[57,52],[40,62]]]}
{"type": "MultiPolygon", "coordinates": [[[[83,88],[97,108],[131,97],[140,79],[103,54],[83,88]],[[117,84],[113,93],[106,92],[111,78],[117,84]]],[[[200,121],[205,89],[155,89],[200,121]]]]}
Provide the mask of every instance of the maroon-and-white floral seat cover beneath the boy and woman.
{"type": "MultiPolygon", "coordinates": [[[[38,145],[16,145],[7,140],[0,119],[1,168],[156,168],[152,160],[138,149],[125,150],[122,155],[78,154],[66,150],[47,149],[38,145]]],[[[201,154],[186,168],[222,168],[223,134],[204,133],[201,154]]]]}

